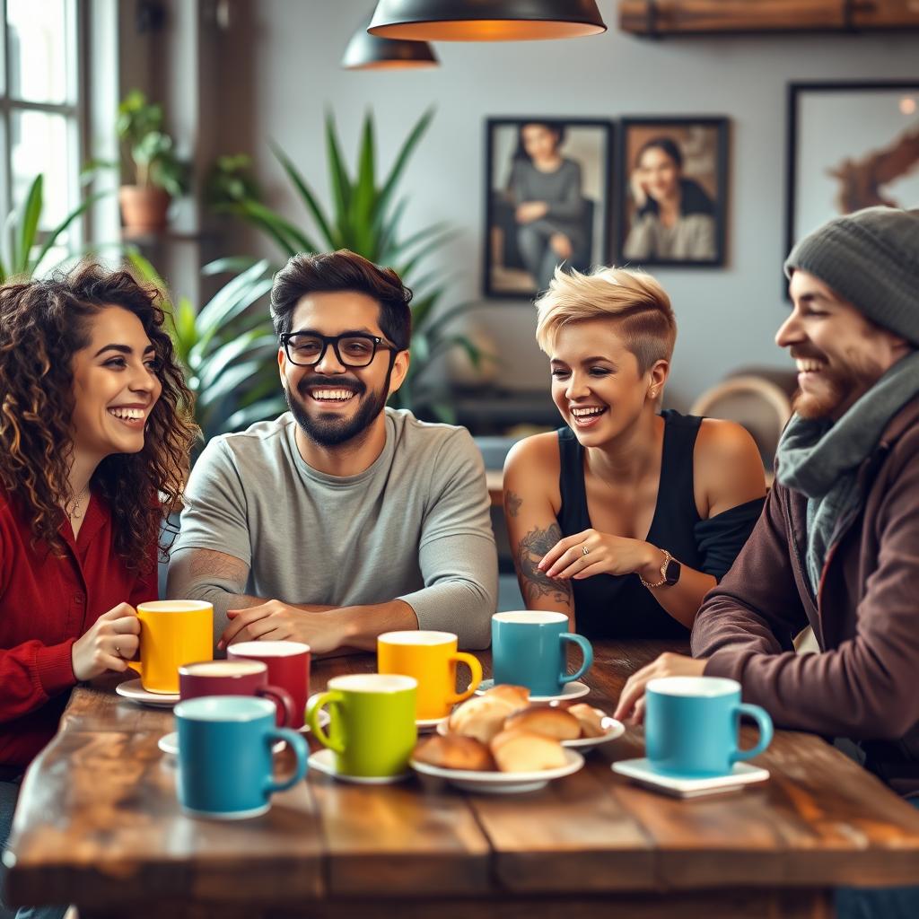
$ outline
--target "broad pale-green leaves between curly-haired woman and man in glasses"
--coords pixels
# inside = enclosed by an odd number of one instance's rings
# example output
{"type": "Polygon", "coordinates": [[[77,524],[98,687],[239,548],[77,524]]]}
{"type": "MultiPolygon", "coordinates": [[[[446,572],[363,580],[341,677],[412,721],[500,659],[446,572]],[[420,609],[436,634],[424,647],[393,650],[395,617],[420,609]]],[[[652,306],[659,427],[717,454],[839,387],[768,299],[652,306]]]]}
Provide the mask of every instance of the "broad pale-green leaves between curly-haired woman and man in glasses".
{"type": "Polygon", "coordinates": [[[267,309],[250,309],[271,289],[266,260],[246,267],[196,311],[187,297],[169,301],[165,281],[143,255],[129,251],[128,259],[139,278],[163,293],[176,357],[195,393],[195,420],[206,440],[285,410],[278,339],[267,309]]]}

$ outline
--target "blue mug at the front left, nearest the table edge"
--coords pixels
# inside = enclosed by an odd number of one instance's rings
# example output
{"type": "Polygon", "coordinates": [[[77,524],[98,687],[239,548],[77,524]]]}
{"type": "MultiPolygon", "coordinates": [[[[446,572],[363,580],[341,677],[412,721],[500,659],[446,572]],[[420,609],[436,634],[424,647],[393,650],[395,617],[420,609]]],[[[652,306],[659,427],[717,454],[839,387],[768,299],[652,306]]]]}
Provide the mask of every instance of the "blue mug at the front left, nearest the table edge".
{"type": "Polygon", "coordinates": [[[257,817],[271,807],[275,791],[306,775],[306,741],[276,728],[277,709],[267,698],[205,696],[176,705],[178,800],[183,811],[216,820],[257,817]],[[289,778],[273,778],[272,744],[288,743],[297,757],[289,778]]]}

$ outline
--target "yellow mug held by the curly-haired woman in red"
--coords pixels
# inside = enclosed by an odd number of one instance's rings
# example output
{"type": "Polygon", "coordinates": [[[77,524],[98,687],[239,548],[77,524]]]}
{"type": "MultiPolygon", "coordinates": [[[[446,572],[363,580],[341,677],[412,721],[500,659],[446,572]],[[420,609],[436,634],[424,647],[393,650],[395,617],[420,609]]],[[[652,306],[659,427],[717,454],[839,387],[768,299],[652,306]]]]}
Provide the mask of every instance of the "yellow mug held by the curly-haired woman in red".
{"type": "Polygon", "coordinates": [[[214,607],[200,600],[140,603],[141,660],[129,661],[147,692],[177,693],[178,668],[212,661],[214,607]]]}

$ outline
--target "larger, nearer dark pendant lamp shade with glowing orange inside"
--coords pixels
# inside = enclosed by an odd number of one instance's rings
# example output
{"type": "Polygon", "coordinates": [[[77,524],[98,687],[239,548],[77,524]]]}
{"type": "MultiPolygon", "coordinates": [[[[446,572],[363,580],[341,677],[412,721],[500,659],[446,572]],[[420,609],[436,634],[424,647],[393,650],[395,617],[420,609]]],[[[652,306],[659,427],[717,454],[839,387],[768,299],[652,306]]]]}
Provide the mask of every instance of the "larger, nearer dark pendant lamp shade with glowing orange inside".
{"type": "Polygon", "coordinates": [[[596,0],[380,0],[369,32],[415,41],[570,39],[607,30],[596,0]]]}

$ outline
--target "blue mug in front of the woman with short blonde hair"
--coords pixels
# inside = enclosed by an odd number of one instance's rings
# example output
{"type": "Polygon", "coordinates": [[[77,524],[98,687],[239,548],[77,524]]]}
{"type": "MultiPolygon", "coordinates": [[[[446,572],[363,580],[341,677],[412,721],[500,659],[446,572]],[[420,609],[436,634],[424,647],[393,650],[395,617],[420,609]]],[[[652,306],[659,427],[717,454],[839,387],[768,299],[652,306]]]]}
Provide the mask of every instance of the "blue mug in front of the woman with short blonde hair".
{"type": "Polygon", "coordinates": [[[534,696],[558,696],[566,683],[583,676],[593,663],[590,642],[568,631],[564,613],[525,609],[492,617],[495,684],[527,686],[534,696]],[[573,674],[567,672],[569,643],[579,645],[584,654],[584,663],[573,674]]]}

